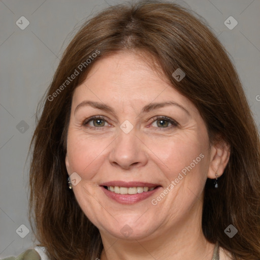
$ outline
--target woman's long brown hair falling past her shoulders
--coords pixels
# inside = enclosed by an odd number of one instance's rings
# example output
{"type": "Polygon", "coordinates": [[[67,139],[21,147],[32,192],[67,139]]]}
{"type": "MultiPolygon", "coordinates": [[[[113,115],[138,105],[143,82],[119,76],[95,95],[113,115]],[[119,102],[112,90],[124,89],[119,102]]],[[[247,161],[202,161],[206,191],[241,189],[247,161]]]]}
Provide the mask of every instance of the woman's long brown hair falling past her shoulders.
{"type": "Polygon", "coordinates": [[[234,259],[259,260],[260,145],[239,77],[202,21],[179,5],[158,1],[105,9],[81,27],[64,51],[31,142],[29,209],[36,238],[51,260],[92,260],[101,255],[99,230],[68,189],[66,137],[74,89],[96,60],[120,50],[149,52],[173,87],[196,105],[210,142],[220,139],[230,145],[218,188],[212,188],[212,180],[206,182],[203,232],[234,259]],[[64,84],[82,63],[80,75],[64,84]],[[172,77],[177,68],[186,74],[179,82],[172,77]],[[224,233],[230,224],[238,230],[232,239],[224,233]]]}

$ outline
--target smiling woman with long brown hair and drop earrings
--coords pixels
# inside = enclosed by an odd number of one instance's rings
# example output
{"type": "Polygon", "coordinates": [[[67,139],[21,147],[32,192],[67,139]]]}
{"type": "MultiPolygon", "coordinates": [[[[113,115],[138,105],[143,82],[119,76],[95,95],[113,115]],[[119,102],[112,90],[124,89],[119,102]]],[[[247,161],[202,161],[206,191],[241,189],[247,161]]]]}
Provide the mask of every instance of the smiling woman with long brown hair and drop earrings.
{"type": "Polygon", "coordinates": [[[222,45],[176,4],[86,22],[31,147],[40,244],[18,259],[260,259],[256,126],[222,45]]]}

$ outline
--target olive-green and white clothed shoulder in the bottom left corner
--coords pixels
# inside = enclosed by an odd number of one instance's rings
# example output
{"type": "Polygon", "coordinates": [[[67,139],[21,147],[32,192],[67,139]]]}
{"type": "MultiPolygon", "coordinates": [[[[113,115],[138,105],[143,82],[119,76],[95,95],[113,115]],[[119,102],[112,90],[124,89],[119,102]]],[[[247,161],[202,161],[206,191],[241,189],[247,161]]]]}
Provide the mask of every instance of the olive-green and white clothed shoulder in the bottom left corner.
{"type": "Polygon", "coordinates": [[[45,254],[45,248],[36,246],[33,249],[27,249],[26,251],[19,254],[17,257],[10,256],[3,260],[49,260],[45,254]]]}

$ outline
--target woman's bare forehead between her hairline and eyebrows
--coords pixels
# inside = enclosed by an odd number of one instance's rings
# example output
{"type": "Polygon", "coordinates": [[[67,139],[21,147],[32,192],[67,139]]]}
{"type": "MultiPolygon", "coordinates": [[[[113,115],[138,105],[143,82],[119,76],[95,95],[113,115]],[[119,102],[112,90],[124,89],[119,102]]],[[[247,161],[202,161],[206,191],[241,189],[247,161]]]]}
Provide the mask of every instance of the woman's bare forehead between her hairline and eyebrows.
{"type": "Polygon", "coordinates": [[[101,58],[76,88],[74,102],[82,102],[87,97],[99,102],[110,99],[117,103],[122,100],[149,103],[175,98],[188,103],[162,73],[153,69],[153,63],[148,62],[144,55],[126,51],[101,58]]]}

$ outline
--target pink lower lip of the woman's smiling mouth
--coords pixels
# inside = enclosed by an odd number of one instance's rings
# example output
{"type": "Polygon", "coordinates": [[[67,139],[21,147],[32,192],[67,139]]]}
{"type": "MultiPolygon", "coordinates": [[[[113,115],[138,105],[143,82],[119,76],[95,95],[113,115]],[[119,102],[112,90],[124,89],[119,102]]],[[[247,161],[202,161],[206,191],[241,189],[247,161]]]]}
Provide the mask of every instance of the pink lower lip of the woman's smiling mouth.
{"type": "Polygon", "coordinates": [[[101,186],[101,188],[110,199],[113,199],[114,201],[116,201],[118,203],[135,204],[137,202],[143,201],[143,200],[149,198],[150,196],[152,196],[152,194],[154,194],[160,187],[158,186],[153,190],[145,191],[142,193],[136,193],[136,194],[118,194],[113,191],[109,191],[104,186],[101,186]]]}

